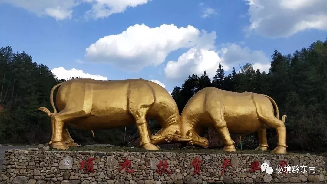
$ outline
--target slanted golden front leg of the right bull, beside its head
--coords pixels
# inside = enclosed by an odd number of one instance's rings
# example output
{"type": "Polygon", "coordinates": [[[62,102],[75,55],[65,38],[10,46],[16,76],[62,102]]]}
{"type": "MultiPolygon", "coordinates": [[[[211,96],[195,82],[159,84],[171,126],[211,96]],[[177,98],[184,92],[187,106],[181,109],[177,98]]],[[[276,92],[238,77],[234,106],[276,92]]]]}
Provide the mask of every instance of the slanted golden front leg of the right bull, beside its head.
{"type": "Polygon", "coordinates": [[[232,140],[231,135],[229,134],[226,121],[224,120],[223,113],[221,110],[215,111],[214,109],[209,111],[209,114],[213,120],[215,128],[220,133],[224,141],[223,151],[236,151],[235,142],[232,140]]]}

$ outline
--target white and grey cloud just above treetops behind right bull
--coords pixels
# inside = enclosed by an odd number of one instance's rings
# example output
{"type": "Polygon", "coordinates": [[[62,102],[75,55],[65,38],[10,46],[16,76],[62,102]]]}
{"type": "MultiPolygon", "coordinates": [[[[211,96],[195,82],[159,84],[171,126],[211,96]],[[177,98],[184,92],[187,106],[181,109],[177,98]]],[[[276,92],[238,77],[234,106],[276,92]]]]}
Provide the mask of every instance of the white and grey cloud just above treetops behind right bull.
{"type": "Polygon", "coordinates": [[[164,72],[167,78],[182,79],[191,74],[202,75],[206,70],[209,77],[213,77],[219,63],[225,71],[239,64],[251,62],[254,69],[268,72],[270,61],[263,51],[251,50],[238,44],[222,44],[216,52],[206,48],[191,48],[183,53],[177,61],[168,61],[164,72]]]}

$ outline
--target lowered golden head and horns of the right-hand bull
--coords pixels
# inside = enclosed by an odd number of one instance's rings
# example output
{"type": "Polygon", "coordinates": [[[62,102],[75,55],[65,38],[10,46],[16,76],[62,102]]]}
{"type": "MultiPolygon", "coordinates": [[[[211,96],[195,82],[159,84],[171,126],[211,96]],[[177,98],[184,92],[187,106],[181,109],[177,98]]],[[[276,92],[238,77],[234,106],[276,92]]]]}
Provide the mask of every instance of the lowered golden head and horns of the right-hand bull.
{"type": "Polygon", "coordinates": [[[208,139],[204,137],[200,137],[193,130],[189,130],[186,133],[186,136],[178,135],[178,130],[175,132],[174,137],[172,138],[174,141],[188,141],[187,145],[198,145],[204,148],[207,148],[209,145],[208,139]]]}

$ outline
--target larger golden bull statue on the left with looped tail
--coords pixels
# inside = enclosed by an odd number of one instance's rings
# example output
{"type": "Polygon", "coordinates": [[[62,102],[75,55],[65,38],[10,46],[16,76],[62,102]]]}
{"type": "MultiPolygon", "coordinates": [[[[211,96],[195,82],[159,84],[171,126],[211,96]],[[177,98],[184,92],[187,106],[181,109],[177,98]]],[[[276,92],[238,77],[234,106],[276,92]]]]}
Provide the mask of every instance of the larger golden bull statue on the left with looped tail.
{"type": "Polygon", "coordinates": [[[144,79],[72,79],[52,88],[50,102],[53,113],[44,107],[39,110],[50,116],[49,144],[59,149],[78,146],[69,135],[68,125],[92,131],[136,124],[140,144],[147,150],[158,150],[155,145],[172,141],[180,125],[172,96],[159,84],[144,79]],[[55,106],[53,93],[58,87],[55,106]],[[156,135],[150,135],[148,119],[155,119],[162,126],[156,135]]]}

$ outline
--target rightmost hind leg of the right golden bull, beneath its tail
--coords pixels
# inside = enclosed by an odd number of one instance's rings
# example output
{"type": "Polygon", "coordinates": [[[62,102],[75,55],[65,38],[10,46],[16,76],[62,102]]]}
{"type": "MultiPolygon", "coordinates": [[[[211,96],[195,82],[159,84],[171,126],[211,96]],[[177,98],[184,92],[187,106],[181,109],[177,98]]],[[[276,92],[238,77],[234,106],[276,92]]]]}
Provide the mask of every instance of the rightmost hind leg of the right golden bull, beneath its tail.
{"type": "Polygon", "coordinates": [[[267,118],[266,125],[274,127],[277,131],[277,147],[272,150],[273,153],[285,154],[286,153],[286,128],[282,121],[276,117],[267,118]]]}

